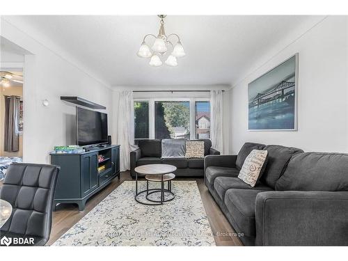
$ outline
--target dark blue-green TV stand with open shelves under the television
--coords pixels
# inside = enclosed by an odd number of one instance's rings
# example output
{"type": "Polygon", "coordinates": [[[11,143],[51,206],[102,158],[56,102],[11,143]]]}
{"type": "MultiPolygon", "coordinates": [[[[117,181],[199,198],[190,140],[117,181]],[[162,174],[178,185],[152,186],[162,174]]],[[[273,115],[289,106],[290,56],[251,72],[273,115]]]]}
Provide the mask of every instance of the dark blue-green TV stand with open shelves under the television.
{"type": "Polygon", "coordinates": [[[120,145],[104,144],[76,154],[52,153],[51,163],[61,166],[54,210],[58,203],[76,203],[82,211],[91,196],[115,177],[120,180],[120,145]]]}

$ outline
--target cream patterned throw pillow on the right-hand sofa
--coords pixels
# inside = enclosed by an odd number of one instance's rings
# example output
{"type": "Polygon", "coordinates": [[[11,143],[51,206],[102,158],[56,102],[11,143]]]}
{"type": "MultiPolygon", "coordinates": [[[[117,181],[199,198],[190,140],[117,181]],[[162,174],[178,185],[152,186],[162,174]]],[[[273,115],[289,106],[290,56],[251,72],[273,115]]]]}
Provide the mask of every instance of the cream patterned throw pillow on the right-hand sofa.
{"type": "Polygon", "coordinates": [[[251,187],[255,187],[267,164],[267,154],[267,150],[252,150],[246,157],[238,177],[251,187]]]}

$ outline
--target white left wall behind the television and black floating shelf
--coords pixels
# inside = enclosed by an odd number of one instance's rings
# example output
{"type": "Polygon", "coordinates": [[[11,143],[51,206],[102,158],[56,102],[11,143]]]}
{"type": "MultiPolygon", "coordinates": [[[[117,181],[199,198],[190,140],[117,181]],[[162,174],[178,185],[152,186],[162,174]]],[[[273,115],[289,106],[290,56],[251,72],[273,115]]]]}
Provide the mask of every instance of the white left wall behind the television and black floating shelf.
{"type": "Polygon", "coordinates": [[[24,57],[24,161],[49,163],[54,145],[76,143],[75,107],[61,101],[61,95],[102,104],[111,120],[111,90],[24,31],[1,18],[1,36],[32,54],[24,57]],[[45,99],[47,107],[42,106],[45,99]]]}

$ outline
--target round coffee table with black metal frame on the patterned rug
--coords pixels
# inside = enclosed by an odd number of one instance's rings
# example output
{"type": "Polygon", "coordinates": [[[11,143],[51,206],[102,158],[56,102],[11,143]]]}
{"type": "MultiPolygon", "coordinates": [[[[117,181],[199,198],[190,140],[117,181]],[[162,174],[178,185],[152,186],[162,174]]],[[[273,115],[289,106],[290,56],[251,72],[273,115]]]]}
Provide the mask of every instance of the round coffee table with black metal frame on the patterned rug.
{"type": "Polygon", "coordinates": [[[168,165],[168,164],[148,164],[148,165],[138,166],[134,169],[134,171],[136,173],[134,199],[136,200],[137,203],[140,203],[143,205],[162,205],[166,201],[173,200],[175,195],[173,194],[173,192],[171,192],[171,186],[169,182],[173,180],[171,175],[173,175],[173,172],[176,171],[175,166],[168,165]],[[146,189],[140,192],[138,192],[138,174],[146,176],[146,189]],[[148,187],[149,180],[161,182],[161,189],[149,189],[148,187]],[[168,181],[168,189],[164,189],[164,182],[166,181],[168,181]],[[159,193],[159,192],[161,193],[161,200],[148,199],[149,194],[159,193]],[[166,198],[164,198],[164,192],[171,193],[173,197],[166,200],[166,198]],[[149,201],[152,201],[152,203],[145,203],[145,202],[142,202],[141,200],[138,200],[138,196],[141,193],[146,193],[146,199],[149,201]]]}

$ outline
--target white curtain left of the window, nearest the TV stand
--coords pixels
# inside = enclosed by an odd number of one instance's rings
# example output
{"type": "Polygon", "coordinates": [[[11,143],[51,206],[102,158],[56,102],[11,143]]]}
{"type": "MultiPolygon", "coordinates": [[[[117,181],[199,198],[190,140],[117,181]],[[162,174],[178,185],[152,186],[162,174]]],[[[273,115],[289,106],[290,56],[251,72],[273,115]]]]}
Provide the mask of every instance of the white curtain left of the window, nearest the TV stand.
{"type": "Polygon", "coordinates": [[[134,145],[134,104],[132,90],[122,90],[118,102],[117,144],[120,144],[120,171],[130,169],[134,145]]]}

